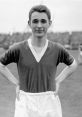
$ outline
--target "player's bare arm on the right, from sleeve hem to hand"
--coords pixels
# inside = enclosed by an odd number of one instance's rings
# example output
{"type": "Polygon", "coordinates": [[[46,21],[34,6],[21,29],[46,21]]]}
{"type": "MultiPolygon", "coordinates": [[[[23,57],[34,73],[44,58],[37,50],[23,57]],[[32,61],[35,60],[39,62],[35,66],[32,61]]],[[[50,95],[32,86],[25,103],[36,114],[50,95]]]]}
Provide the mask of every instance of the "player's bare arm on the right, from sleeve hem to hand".
{"type": "Polygon", "coordinates": [[[58,92],[60,83],[67,77],[69,77],[77,68],[77,62],[73,61],[73,63],[69,66],[66,66],[64,70],[57,76],[56,78],[56,92],[58,92]]]}

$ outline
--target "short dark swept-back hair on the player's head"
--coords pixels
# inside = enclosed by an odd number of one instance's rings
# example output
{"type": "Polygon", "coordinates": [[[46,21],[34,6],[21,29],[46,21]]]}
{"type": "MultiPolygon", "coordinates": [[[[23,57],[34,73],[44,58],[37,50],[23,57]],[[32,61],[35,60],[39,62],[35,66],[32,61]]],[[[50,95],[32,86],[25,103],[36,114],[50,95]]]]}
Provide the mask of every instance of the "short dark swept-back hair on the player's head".
{"type": "Polygon", "coordinates": [[[45,5],[36,5],[32,7],[31,10],[29,11],[29,20],[31,19],[31,15],[33,12],[46,13],[48,16],[48,19],[51,20],[50,10],[45,5]]]}

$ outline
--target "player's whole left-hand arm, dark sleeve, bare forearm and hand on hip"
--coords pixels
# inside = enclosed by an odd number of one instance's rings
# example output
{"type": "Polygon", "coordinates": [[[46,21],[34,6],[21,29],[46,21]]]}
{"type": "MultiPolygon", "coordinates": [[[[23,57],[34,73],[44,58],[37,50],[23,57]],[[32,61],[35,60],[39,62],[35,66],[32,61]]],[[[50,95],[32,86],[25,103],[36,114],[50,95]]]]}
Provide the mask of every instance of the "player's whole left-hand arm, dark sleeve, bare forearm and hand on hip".
{"type": "Polygon", "coordinates": [[[12,62],[18,63],[19,54],[20,54],[19,44],[15,44],[11,46],[10,49],[5,53],[3,53],[3,55],[0,57],[0,73],[9,81],[11,81],[14,85],[16,85],[16,95],[18,99],[19,99],[19,92],[20,92],[19,81],[10,72],[10,70],[6,67],[6,65],[12,62]]]}

